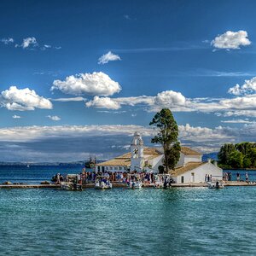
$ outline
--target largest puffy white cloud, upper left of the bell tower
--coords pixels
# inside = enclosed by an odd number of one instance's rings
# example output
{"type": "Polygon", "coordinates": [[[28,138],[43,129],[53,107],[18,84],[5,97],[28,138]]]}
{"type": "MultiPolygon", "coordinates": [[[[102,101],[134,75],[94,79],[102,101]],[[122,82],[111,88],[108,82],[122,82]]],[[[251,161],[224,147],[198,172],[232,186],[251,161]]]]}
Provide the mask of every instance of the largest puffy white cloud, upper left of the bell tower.
{"type": "Polygon", "coordinates": [[[65,80],[55,80],[51,90],[61,90],[75,96],[87,94],[92,96],[112,96],[121,90],[118,82],[109,78],[106,73],[80,73],[65,80]]]}

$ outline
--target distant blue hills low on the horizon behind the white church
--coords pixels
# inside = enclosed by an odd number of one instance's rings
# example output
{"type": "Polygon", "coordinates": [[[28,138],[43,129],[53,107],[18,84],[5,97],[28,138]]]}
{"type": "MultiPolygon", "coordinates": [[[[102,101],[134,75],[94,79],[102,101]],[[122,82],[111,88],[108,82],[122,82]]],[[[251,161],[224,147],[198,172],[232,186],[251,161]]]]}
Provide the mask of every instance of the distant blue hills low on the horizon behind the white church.
{"type": "MultiPolygon", "coordinates": [[[[218,152],[210,153],[210,154],[203,154],[202,160],[207,161],[208,159],[218,160],[218,152]]],[[[97,160],[98,163],[104,160],[97,160]]],[[[85,160],[78,160],[72,162],[38,162],[38,163],[31,163],[31,162],[0,162],[0,166],[84,166],[85,160]]]]}

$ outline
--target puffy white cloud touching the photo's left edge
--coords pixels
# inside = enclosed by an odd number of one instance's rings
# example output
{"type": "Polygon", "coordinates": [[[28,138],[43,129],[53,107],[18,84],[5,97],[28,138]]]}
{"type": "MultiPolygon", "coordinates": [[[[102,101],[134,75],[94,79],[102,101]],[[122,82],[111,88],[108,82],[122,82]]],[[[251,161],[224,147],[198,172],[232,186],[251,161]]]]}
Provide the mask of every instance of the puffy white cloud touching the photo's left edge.
{"type": "Polygon", "coordinates": [[[18,89],[16,86],[10,86],[8,90],[1,92],[0,103],[9,110],[18,111],[52,108],[52,103],[43,96],[38,96],[35,90],[18,89]]]}

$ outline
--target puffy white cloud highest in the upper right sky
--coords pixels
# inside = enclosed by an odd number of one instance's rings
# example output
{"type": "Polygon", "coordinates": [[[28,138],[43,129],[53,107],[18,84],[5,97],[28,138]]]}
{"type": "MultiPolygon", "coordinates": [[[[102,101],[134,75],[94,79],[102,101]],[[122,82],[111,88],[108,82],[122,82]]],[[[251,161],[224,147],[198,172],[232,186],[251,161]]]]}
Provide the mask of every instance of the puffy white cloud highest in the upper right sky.
{"type": "Polygon", "coordinates": [[[214,38],[211,44],[218,49],[240,49],[241,46],[251,44],[247,37],[247,32],[243,30],[238,32],[227,31],[214,38]]]}

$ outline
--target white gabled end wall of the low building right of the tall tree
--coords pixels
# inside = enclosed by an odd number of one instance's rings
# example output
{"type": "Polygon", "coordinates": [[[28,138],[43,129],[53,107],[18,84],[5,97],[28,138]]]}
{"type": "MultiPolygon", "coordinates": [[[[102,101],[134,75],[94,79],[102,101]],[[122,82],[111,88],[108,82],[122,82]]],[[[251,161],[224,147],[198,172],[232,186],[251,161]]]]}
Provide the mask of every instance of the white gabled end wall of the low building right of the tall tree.
{"type": "Polygon", "coordinates": [[[177,183],[181,183],[181,177],[184,177],[184,183],[192,183],[192,175],[191,173],[195,173],[195,183],[204,183],[206,174],[212,175],[212,180],[218,179],[222,180],[223,178],[223,170],[218,168],[217,166],[212,165],[211,163],[206,163],[203,166],[199,166],[194,170],[189,172],[185,172],[182,175],[177,176],[177,183]]]}

